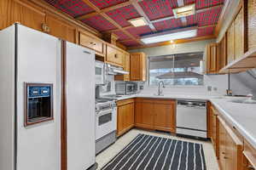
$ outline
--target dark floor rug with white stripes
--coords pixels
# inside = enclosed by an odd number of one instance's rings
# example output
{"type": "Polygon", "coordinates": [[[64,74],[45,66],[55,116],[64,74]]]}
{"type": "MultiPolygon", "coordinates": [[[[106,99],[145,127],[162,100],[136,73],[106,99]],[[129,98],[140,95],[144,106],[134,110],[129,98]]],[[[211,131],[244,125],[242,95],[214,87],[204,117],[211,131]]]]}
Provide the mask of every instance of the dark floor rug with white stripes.
{"type": "Polygon", "coordinates": [[[206,170],[202,144],[139,134],[102,170],[206,170]]]}

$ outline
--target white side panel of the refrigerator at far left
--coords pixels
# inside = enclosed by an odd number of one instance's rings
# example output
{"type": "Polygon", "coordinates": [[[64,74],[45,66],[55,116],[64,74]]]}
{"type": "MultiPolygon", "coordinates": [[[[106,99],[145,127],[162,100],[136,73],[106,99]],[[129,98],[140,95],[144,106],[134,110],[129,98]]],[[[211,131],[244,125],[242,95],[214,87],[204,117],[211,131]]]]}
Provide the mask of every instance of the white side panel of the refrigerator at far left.
{"type": "Polygon", "coordinates": [[[0,31],[0,169],[15,169],[15,26],[0,31]]]}

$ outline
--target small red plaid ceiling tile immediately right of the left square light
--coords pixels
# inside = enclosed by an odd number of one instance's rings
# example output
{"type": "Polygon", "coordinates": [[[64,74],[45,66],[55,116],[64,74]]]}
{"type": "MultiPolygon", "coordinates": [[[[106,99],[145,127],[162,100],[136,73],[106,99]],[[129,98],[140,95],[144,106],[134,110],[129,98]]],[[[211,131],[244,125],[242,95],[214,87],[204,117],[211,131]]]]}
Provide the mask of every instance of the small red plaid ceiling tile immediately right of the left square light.
{"type": "Polygon", "coordinates": [[[157,31],[169,30],[169,29],[177,28],[181,26],[182,26],[182,22],[180,19],[163,20],[163,21],[154,23],[154,27],[156,28],[157,31]]]}

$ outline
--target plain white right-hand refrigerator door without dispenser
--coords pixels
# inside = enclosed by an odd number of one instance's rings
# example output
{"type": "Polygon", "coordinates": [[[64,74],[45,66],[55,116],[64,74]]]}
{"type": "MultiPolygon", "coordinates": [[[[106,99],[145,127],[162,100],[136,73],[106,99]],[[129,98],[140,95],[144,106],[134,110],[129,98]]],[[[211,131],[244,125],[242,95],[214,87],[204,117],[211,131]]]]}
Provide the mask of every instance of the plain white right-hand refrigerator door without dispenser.
{"type": "Polygon", "coordinates": [[[67,42],[67,170],[95,163],[95,54],[67,42]]]}

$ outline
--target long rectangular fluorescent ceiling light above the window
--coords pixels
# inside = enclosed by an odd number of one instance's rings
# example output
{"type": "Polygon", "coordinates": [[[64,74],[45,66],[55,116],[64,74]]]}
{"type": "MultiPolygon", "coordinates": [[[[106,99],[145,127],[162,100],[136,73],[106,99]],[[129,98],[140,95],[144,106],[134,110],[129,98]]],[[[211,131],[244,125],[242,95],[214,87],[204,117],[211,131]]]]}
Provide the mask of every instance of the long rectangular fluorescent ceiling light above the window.
{"type": "Polygon", "coordinates": [[[143,37],[141,40],[144,43],[155,43],[155,42],[166,42],[171,40],[183,39],[188,37],[195,37],[197,35],[197,29],[187,30],[187,31],[178,31],[164,35],[143,37]]]}

